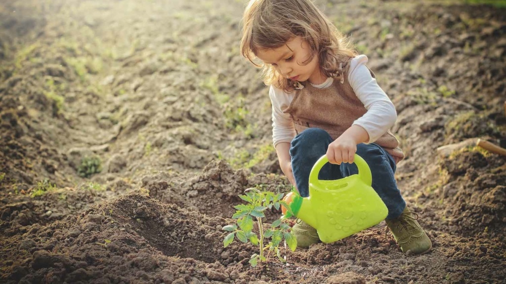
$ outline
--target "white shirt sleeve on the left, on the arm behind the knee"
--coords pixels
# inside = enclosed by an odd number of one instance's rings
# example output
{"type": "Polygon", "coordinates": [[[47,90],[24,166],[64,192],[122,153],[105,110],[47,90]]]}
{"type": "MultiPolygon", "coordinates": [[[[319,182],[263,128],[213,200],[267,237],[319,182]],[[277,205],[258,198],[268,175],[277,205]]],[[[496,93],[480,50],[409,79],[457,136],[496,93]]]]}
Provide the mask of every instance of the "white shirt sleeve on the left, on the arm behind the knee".
{"type": "Polygon", "coordinates": [[[271,86],[269,97],[272,104],[272,142],[274,147],[281,142],[290,143],[295,137],[295,127],[290,114],[283,113],[292,99],[292,94],[271,86]]]}

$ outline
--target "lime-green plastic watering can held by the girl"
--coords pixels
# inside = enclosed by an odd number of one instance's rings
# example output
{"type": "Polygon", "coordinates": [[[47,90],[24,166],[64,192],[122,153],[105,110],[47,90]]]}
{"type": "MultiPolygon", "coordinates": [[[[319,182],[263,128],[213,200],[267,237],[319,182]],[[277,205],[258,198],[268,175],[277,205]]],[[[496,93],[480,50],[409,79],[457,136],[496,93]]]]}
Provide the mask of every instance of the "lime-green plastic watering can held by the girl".
{"type": "Polygon", "coordinates": [[[319,180],[318,174],[327,162],[323,155],[311,169],[309,197],[297,192],[286,195],[284,201],[291,210],[282,208],[286,217],[294,215],[311,225],[323,243],[339,241],[387,217],[387,206],[371,187],[371,170],[362,157],[355,154],[358,174],[319,180]]]}

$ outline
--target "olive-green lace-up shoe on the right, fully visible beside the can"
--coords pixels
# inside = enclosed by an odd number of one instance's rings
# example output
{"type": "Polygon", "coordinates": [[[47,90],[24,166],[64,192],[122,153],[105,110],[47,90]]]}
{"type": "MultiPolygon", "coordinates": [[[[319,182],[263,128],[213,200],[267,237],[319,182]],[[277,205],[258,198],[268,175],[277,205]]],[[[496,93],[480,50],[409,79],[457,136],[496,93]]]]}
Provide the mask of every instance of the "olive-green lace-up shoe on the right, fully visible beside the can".
{"type": "Polygon", "coordinates": [[[396,219],[385,219],[388,228],[394,234],[395,241],[404,253],[411,251],[413,254],[425,254],[432,248],[431,240],[417,219],[418,214],[409,211],[407,206],[396,219]]]}

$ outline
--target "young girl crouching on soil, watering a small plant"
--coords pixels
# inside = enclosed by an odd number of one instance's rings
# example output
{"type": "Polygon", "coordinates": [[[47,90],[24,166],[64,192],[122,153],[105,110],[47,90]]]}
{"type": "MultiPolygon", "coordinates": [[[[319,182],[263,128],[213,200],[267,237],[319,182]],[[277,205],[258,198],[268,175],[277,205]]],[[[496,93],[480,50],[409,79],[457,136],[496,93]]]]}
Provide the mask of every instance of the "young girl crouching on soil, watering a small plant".
{"type": "MultiPolygon", "coordinates": [[[[358,172],[354,154],[372,172],[372,187],[389,209],[386,222],[403,252],[430,251],[432,243],[407,209],[394,178],[404,158],[388,130],[394,105],[345,37],[310,0],[250,0],[243,16],[241,54],[262,67],[270,85],[273,143],[281,170],[301,196],[322,155],[320,179],[358,172]]],[[[293,226],[299,247],[319,241],[314,228],[293,226]]]]}

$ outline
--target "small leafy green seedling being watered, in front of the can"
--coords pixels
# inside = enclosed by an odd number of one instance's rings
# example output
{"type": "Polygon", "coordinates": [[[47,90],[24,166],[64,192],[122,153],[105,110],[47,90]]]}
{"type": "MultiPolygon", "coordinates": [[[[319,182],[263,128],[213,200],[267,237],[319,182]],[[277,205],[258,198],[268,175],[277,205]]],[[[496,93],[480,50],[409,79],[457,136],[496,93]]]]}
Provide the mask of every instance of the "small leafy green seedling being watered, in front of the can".
{"type": "Polygon", "coordinates": [[[283,194],[275,194],[272,192],[261,192],[257,188],[248,188],[245,191],[245,195],[239,196],[242,200],[246,201],[247,204],[240,204],[234,206],[237,212],[232,216],[233,219],[237,219],[237,225],[227,225],[223,229],[230,231],[230,233],[223,240],[224,247],[228,247],[234,241],[234,236],[242,243],[247,243],[248,240],[251,244],[259,246],[259,254],[253,254],[249,260],[249,264],[255,267],[258,261],[267,261],[269,254],[274,252],[281,262],[286,262],[281,257],[279,250],[279,244],[283,239],[286,245],[291,251],[295,251],[297,248],[297,239],[290,232],[290,226],[283,221],[285,216],[281,216],[280,219],[272,222],[271,227],[264,230],[262,218],[265,217],[264,211],[271,209],[273,206],[276,210],[283,205],[286,208],[289,206],[282,201],[283,194]],[[253,232],[253,218],[256,218],[258,222],[258,233],[260,234],[260,240],[258,235],[253,232]],[[264,244],[266,239],[270,241],[267,245],[264,244]],[[265,252],[268,251],[267,256],[265,252]]]}

